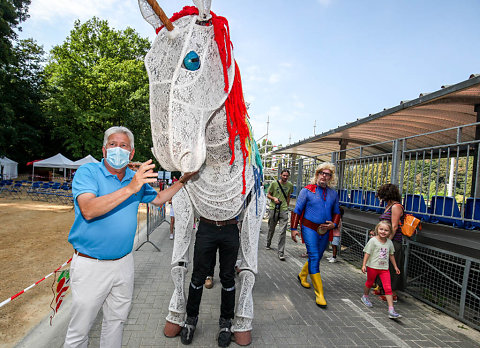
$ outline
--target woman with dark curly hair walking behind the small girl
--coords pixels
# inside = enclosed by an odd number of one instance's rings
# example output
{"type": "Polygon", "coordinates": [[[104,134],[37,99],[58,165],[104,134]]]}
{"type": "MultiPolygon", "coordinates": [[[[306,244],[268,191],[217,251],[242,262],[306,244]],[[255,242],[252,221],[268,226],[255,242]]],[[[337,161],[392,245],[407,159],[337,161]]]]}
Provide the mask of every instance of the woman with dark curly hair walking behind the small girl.
{"type": "MultiPolygon", "coordinates": [[[[383,211],[382,215],[380,215],[379,220],[383,221],[386,220],[390,222],[392,225],[392,234],[388,237],[392,242],[393,246],[395,247],[394,258],[397,263],[398,268],[403,270],[403,263],[405,260],[405,256],[403,253],[403,234],[401,225],[403,224],[404,218],[404,209],[402,204],[400,203],[402,200],[402,196],[400,195],[400,191],[398,190],[398,186],[394,184],[383,184],[377,190],[377,197],[381,200],[386,202],[385,210],[383,211]]],[[[396,274],[393,265],[390,263],[390,277],[391,277],[391,284],[392,284],[392,292],[393,292],[393,302],[397,302],[397,290],[403,290],[403,275],[396,274]]],[[[380,298],[384,301],[387,299],[384,296],[383,289],[377,290],[375,292],[377,295],[382,295],[380,298]]]]}

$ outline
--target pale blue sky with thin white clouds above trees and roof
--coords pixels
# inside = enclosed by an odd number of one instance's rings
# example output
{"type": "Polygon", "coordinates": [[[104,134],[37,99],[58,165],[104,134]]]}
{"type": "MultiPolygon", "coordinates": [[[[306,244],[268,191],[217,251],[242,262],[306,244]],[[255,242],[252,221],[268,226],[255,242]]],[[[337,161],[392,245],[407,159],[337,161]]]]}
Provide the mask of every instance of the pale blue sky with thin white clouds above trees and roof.
{"type": "MultiPolygon", "coordinates": [[[[157,0],[168,16],[186,0],[157,0]]],[[[287,145],[480,73],[479,0],[213,0],[230,23],[250,120],[287,145]]],[[[75,19],[153,41],[136,0],[32,0],[22,38],[46,51],[75,19]]],[[[400,135],[399,135],[400,136],[400,135]]]]}

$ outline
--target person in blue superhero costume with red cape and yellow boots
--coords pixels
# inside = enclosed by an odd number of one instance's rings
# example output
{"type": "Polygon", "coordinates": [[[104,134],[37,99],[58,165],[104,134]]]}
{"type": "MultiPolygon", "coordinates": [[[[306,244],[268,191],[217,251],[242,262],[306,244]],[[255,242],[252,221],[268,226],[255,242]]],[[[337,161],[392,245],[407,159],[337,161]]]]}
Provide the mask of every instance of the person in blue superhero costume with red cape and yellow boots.
{"type": "Polygon", "coordinates": [[[310,288],[307,282],[307,275],[310,274],[315,289],[315,302],[322,308],[327,307],[327,301],[323,296],[320,260],[328,245],[328,232],[340,222],[338,195],[329,187],[335,182],[335,166],[328,162],[322,163],[315,171],[312,184],[300,191],[290,222],[294,242],[297,242],[300,234],[298,225],[302,226],[302,240],[308,253],[308,261],[300,271],[298,280],[304,288],[310,288]]]}

